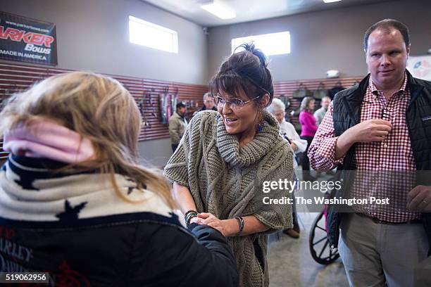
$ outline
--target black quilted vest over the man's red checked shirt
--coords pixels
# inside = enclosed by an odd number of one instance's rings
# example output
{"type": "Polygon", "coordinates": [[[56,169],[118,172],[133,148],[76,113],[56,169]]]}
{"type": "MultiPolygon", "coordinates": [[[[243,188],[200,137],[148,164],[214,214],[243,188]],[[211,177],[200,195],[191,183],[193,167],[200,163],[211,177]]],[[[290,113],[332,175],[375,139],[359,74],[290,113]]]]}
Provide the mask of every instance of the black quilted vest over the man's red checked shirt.
{"type": "MultiPolygon", "coordinates": [[[[407,88],[411,93],[411,100],[406,110],[406,123],[411,139],[411,148],[416,163],[416,169],[431,171],[431,82],[416,79],[407,73],[407,88]]],[[[335,136],[340,136],[346,129],[358,124],[361,119],[361,103],[368,87],[370,75],[365,77],[354,87],[340,91],[334,98],[335,136]]],[[[344,164],[337,167],[338,179],[343,179],[342,189],[337,190],[332,196],[342,197],[353,184],[351,172],[354,170],[354,153],[356,145],[353,145],[346,153],[344,164]]],[[[431,185],[431,177],[418,179],[417,184],[431,185]]],[[[341,221],[342,207],[330,205],[327,211],[327,228],[330,244],[337,247],[339,238],[339,224],[341,221]]],[[[431,251],[431,217],[430,213],[423,213],[423,224],[427,231],[431,251]]],[[[429,251],[429,255],[430,255],[429,251]]]]}

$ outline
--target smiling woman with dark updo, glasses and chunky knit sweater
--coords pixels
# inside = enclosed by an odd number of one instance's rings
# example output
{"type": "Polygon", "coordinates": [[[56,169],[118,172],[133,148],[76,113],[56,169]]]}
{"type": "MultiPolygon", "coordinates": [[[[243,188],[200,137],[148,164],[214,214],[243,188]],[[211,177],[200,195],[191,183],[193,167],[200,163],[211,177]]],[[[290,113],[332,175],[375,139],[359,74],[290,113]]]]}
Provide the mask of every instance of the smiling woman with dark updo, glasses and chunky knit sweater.
{"type": "Polygon", "coordinates": [[[293,153],[265,108],[273,98],[266,56],[242,44],[209,82],[218,112],[195,115],[165,166],[186,224],[218,229],[232,246],[239,286],[268,286],[268,234],[292,228],[293,153]]]}

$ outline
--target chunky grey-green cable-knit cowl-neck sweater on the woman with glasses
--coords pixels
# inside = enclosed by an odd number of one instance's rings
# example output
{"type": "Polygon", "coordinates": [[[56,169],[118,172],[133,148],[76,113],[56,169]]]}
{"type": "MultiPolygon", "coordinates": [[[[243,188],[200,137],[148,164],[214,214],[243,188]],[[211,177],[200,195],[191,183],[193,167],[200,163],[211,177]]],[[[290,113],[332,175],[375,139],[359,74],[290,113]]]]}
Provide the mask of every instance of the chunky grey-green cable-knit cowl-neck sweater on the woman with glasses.
{"type": "Polygon", "coordinates": [[[275,118],[263,112],[265,125],[253,141],[239,147],[214,111],[196,114],[180,146],[165,167],[165,177],[187,186],[197,212],[219,219],[254,215],[270,229],[265,233],[231,236],[239,271],[239,286],[268,286],[268,234],[292,227],[290,205],[264,205],[263,196],[290,197],[285,190],[263,193],[263,181],[292,180],[293,152],[279,134],[275,118]]]}

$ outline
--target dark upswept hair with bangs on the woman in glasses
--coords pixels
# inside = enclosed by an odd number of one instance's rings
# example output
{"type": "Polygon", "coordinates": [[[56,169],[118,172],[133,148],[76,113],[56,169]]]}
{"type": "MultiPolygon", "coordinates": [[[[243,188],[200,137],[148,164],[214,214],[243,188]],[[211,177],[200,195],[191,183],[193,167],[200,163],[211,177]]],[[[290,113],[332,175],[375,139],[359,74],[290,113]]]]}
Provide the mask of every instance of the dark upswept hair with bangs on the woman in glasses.
{"type": "Polygon", "coordinates": [[[257,103],[261,103],[263,95],[268,94],[269,105],[273,101],[274,87],[265,54],[256,49],[253,43],[241,44],[235,51],[211,78],[208,84],[211,94],[217,96],[221,90],[238,96],[244,91],[249,98],[259,96],[254,100],[257,103]],[[244,51],[235,53],[238,48],[244,48],[244,51]]]}

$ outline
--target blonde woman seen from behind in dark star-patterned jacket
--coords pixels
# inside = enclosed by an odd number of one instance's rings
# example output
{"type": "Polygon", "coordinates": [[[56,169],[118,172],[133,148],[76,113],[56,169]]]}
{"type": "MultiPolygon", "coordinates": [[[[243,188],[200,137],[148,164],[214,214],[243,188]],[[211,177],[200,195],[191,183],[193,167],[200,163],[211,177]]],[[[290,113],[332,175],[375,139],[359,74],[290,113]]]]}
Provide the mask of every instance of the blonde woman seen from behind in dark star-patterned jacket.
{"type": "Polygon", "coordinates": [[[0,119],[11,152],[0,239],[14,246],[0,248],[0,272],[49,272],[55,286],[237,285],[223,236],[189,234],[168,183],[138,165],[141,117],[120,83],[57,75],[15,95],[0,119]]]}

